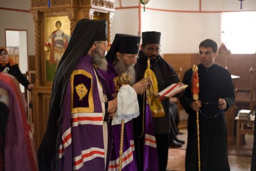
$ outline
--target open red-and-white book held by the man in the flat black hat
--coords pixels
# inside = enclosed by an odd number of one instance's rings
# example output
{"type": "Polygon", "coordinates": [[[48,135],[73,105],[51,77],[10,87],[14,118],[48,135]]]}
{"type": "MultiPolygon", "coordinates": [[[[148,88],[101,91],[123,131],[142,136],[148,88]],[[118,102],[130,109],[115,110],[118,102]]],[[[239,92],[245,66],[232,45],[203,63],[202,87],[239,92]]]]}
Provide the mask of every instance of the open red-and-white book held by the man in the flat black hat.
{"type": "Polygon", "coordinates": [[[178,83],[173,83],[173,84],[170,84],[170,86],[168,86],[167,88],[163,89],[161,92],[157,93],[156,97],[159,98],[160,100],[163,97],[173,97],[174,95],[182,92],[187,87],[188,87],[187,85],[180,87],[178,83]]]}

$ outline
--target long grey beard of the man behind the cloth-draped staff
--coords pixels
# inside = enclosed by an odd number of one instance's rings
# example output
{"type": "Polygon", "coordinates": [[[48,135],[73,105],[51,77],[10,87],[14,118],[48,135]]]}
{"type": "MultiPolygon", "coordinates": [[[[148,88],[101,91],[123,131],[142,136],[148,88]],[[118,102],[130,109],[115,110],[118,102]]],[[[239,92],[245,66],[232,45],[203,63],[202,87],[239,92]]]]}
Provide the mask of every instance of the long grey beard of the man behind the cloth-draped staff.
{"type": "Polygon", "coordinates": [[[132,86],[135,83],[135,70],[134,65],[126,66],[124,60],[121,58],[120,60],[116,61],[114,63],[115,71],[120,76],[122,73],[129,74],[131,77],[130,80],[130,86],[132,86]]]}

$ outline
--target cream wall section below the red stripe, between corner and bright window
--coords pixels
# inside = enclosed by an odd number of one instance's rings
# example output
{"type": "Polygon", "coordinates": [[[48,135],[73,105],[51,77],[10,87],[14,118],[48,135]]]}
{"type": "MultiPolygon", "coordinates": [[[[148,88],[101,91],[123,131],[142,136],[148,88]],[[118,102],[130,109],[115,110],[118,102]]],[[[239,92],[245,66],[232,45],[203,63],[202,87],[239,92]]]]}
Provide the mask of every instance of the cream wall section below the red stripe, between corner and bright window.
{"type": "Polygon", "coordinates": [[[142,32],[161,32],[161,53],[196,53],[206,38],[220,41],[219,13],[165,13],[142,15],[142,32]],[[165,15],[165,17],[161,17],[165,15]],[[166,19],[168,18],[168,19],[166,19]]]}

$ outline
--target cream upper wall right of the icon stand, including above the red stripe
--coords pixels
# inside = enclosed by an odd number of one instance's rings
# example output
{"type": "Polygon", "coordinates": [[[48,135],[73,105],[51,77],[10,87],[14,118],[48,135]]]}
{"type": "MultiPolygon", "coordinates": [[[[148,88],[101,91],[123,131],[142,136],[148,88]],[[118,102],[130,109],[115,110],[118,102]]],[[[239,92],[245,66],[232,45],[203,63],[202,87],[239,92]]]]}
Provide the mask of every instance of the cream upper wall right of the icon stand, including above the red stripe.
{"type": "Polygon", "coordinates": [[[255,0],[244,1],[242,10],[240,2],[234,0],[201,0],[201,6],[199,0],[150,0],[145,12],[142,5],[139,12],[138,6],[138,0],[116,1],[112,40],[116,33],[159,31],[161,53],[197,53],[198,45],[206,38],[221,45],[221,12],[256,11],[255,0]]]}

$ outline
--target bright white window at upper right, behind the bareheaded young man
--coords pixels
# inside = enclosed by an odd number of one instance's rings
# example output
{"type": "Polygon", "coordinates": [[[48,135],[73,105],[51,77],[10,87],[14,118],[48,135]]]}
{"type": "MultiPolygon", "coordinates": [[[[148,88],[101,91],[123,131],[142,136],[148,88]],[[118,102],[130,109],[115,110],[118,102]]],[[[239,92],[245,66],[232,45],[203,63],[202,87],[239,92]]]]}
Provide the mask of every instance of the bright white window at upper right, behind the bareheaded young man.
{"type": "Polygon", "coordinates": [[[256,53],[256,12],[222,13],[222,42],[232,54],[256,53]]]}

